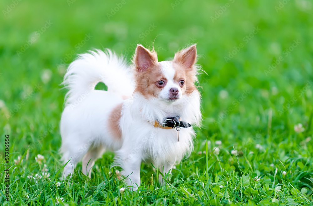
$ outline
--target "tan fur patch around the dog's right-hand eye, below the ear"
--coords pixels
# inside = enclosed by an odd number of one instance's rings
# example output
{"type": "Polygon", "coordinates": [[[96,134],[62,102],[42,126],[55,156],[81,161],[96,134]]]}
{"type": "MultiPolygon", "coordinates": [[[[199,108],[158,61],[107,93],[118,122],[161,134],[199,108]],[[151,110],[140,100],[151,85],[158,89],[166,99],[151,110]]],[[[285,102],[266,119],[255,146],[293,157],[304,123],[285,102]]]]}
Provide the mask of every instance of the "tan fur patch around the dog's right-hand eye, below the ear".
{"type": "Polygon", "coordinates": [[[177,64],[175,62],[173,62],[172,65],[175,70],[173,79],[174,83],[177,83],[180,86],[182,94],[191,94],[196,89],[196,86],[194,85],[195,81],[197,80],[195,70],[184,68],[183,65],[177,64]],[[183,85],[179,83],[181,80],[184,81],[183,85]]]}

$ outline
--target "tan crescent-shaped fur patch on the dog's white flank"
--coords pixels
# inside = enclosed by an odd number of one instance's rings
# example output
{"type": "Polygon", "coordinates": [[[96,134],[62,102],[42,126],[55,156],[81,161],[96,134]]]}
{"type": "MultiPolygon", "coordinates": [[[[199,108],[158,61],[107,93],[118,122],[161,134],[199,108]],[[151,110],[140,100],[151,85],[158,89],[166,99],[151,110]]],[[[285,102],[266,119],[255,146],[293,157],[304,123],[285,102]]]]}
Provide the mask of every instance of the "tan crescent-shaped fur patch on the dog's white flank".
{"type": "Polygon", "coordinates": [[[110,113],[109,116],[109,131],[118,140],[122,138],[122,132],[120,128],[120,119],[123,103],[117,105],[110,113]]]}

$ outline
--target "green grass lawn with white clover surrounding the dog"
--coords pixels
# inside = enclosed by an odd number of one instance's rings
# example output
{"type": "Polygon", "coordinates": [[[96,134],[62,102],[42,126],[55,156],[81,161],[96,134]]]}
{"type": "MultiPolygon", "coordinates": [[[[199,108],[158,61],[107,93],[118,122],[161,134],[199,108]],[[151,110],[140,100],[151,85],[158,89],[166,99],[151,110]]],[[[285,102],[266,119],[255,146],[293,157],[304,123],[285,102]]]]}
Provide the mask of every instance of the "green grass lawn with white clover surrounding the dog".
{"type": "Polygon", "coordinates": [[[54,205],[57,197],[68,205],[312,205],[312,1],[126,0],[109,20],[121,2],[0,2],[0,205],[54,205]],[[113,153],[96,162],[90,180],[80,164],[71,183],[59,181],[66,64],[104,47],[129,61],[136,43],[154,43],[160,61],[197,43],[207,74],[199,77],[203,127],[194,151],[164,187],[141,165],[140,193],[120,192],[113,153]],[[303,132],[295,132],[298,123],[303,132]],[[28,179],[45,172],[49,178],[28,179]]]}

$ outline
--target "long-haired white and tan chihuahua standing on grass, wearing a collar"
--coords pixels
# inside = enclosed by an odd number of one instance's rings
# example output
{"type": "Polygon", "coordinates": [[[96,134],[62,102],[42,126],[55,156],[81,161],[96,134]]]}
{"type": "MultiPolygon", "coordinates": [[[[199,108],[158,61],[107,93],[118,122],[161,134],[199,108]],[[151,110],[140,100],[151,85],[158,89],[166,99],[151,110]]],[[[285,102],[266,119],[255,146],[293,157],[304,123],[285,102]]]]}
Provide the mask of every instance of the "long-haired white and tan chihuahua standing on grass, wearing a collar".
{"type": "Polygon", "coordinates": [[[69,92],[60,123],[63,177],[71,177],[80,160],[90,177],[105,150],[115,152],[113,165],[122,168],[131,190],[141,184],[141,162],[169,173],[191,153],[192,125],[201,121],[196,61],[196,45],[162,62],[154,50],[137,45],[131,66],[110,50],[81,54],[64,76],[69,92]],[[107,91],[95,90],[99,82],[107,91]]]}

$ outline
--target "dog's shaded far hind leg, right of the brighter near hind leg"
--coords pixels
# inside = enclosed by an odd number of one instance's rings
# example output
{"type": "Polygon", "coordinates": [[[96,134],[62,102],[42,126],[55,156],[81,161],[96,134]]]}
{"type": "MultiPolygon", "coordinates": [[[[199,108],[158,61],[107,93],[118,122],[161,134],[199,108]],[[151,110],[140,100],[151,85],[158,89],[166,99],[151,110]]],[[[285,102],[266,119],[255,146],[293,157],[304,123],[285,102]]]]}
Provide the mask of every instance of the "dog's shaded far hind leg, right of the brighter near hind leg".
{"type": "Polygon", "coordinates": [[[91,167],[94,166],[96,159],[101,157],[104,152],[105,147],[100,144],[99,146],[90,147],[88,152],[85,154],[81,171],[89,178],[91,178],[91,167]]]}

